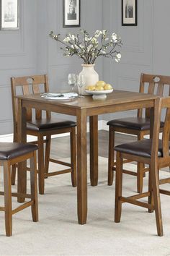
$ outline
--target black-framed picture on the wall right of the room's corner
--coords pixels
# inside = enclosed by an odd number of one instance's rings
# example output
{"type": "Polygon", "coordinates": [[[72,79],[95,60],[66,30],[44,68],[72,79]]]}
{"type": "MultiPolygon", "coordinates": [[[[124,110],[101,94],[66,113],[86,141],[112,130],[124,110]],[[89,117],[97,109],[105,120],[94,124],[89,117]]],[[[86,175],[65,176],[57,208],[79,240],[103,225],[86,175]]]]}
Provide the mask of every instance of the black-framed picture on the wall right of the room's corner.
{"type": "Polygon", "coordinates": [[[137,26],[137,0],[122,0],[122,26],[137,26]]]}

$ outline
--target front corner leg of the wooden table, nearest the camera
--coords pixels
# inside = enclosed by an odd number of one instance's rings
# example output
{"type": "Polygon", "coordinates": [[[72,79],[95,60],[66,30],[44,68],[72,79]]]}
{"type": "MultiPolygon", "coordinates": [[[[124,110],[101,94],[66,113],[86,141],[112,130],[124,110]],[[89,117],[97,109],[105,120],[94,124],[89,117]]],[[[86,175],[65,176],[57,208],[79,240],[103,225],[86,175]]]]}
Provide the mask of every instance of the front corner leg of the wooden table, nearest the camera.
{"type": "Polygon", "coordinates": [[[87,216],[86,110],[77,111],[77,209],[79,223],[85,224],[87,216]]]}

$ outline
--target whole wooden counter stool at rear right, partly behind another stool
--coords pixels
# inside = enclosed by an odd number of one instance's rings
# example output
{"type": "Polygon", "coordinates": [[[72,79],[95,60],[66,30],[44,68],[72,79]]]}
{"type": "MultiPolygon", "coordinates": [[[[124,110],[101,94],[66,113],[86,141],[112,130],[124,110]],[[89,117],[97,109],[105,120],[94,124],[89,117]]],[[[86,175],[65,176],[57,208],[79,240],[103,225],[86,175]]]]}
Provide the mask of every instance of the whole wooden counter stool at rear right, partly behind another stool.
{"type": "MultiPolygon", "coordinates": [[[[170,95],[170,77],[157,75],[157,74],[141,74],[140,75],[140,93],[149,93],[154,95],[166,96],[170,95]],[[167,85],[167,86],[165,86],[167,85]]],[[[114,147],[115,147],[115,132],[123,132],[129,135],[135,135],[138,140],[143,140],[145,135],[150,134],[150,109],[144,108],[138,109],[136,117],[128,117],[122,119],[113,119],[108,121],[109,125],[109,163],[108,163],[108,185],[112,185],[113,182],[113,170],[115,170],[116,162],[114,162],[114,147]],[[143,115],[144,114],[144,115],[143,115]]],[[[164,123],[160,124],[161,130],[163,131],[164,123]]],[[[124,160],[127,163],[127,160],[124,160]]],[[[123,168],[125,174],[137,176],[137,190],[142,192],[143,189],[143,176],[148,168],[145,168],[143,163],[138,162],[137,173],[123,168]]]]}

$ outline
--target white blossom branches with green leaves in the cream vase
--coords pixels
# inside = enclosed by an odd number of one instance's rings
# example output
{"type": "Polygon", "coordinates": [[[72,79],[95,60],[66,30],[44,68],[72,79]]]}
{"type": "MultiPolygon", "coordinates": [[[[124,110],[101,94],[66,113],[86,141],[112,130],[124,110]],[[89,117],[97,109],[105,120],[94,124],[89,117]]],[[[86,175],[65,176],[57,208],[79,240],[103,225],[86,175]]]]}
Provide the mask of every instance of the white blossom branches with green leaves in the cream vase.
{"type": "Polygon", "coordinates": [[[86,30],[80,30],[80,34],[71,35],[69,33],[63,40],[61,40],[60,34],[54,35],[51,31],[50,38],[63,44],[64,47],[61,47],[61,50],[64,51],[64,56],[76,55],[84,60],[84,64],[94,64],[99,56],[115,58],[117,62],[121,58],[117,48],[122,46],[122,40],[117,38],[116,33],[112,33],[109,38],[107,30],[97,30],[92,36],[86,30]]]}

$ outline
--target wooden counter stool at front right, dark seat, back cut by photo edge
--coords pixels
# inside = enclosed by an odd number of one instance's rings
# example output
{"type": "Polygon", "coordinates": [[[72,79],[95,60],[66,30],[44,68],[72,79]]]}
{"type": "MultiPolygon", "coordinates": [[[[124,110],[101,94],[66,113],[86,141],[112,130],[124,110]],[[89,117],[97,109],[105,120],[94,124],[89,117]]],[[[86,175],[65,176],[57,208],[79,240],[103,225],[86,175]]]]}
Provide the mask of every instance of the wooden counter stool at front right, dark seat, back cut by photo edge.
{"type": "Polygon", "coordinates": [[[158,236],[163,236],[163,226],[161,217],[161,202],[159,193],[170,195],[170,191],[159,189],[159,184],[170,182],[170,178],[158,179],[158,171],[161,168],[170,166],[170,97],[156,99],[154,109],[153,139],[140,140],[131,143],[117,145],[116,158],[116,184],[115,184],[115,222],[120,222],[122,203],[128,202],[143,208],[148,208],[150,212],[155,210],[156,226],[158,236]],[[161,110],[166,108],[164,121],[164,131],[162,140],[159,140],[161,110]],[[138,161],[149,165],[148,192],[141,192],[130,197],[122,195],[122,159],[138,161]],[[148,203],[140,201],[140,198],[148,197],[148,203]]]}

